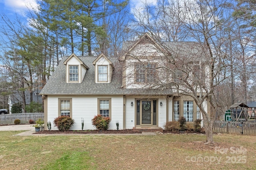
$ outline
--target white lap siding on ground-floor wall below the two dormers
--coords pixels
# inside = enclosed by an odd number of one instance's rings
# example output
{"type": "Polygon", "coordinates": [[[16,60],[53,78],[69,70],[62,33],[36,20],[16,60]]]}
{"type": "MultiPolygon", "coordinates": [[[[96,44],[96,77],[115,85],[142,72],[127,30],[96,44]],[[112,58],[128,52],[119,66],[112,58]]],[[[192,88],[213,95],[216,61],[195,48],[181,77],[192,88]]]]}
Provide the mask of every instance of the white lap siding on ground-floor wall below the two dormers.
{"type": "MultiPolygon", "coordinates": [[[[72,119],[75,123],[70,130],[82,130],[82,118],[84,119],[84,129],[96,129],[92,125],[92,119],[98,114],[98,98],[100,96],[62,96],[62,98],[72,98],[72,119]]],[[[123,129],[123,96],[108,96],[111,98],[111,121],[110,130],[116,129],[116,121],[119,122],[119,129],[123,129]]],[[[48,121],[53,121],[58,117],[58,96],[48,96],[48,121]]],[[[52,126],[52,130],[58,130],[52,126]]]]}

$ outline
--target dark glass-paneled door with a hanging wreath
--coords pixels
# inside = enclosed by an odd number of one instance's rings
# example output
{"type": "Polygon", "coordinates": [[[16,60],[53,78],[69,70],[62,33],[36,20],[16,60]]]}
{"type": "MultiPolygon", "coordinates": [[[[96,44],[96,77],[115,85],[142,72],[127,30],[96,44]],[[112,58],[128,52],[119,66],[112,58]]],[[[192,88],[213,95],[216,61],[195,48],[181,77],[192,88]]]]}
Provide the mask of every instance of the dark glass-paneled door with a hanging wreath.
{"type": "Polygon", "coordinates": [[[151,124],[151,101],[142,101],[142,124],[151,124]]]}

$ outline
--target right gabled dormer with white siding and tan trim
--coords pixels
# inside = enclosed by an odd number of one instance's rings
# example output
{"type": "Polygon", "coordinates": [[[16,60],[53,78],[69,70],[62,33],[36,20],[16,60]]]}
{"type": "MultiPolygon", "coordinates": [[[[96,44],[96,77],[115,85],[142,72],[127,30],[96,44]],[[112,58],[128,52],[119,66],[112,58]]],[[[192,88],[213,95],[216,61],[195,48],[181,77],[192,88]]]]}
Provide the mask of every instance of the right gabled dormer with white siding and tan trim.
{"type": "Polygon", "coordinates": [[[95,83],[110,83],[114,66],[108,57],[101,53],[92,64],[95,66],[95,83]]]}

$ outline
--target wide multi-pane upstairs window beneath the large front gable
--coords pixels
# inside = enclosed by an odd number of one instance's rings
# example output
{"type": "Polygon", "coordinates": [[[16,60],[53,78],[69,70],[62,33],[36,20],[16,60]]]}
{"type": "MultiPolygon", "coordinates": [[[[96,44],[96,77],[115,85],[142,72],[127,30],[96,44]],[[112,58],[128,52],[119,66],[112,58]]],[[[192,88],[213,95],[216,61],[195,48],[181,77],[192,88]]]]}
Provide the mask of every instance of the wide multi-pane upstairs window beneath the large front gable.
{"type": "Polygon", "coordinates": [[[136,82],[156,82],[156,64],[136,64],[136,82]]]}

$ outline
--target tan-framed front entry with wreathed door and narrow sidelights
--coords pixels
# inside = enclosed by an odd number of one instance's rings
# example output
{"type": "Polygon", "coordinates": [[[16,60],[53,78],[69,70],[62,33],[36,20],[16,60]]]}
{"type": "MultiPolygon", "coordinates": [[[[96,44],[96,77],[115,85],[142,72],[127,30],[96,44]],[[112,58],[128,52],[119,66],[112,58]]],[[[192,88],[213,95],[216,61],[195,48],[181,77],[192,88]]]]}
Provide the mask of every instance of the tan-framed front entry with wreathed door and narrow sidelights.
{"type": "Polygon", "coordinates": [[[157,100],[136,100],[136,125],[157,125],[157,100]]]}

